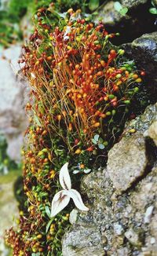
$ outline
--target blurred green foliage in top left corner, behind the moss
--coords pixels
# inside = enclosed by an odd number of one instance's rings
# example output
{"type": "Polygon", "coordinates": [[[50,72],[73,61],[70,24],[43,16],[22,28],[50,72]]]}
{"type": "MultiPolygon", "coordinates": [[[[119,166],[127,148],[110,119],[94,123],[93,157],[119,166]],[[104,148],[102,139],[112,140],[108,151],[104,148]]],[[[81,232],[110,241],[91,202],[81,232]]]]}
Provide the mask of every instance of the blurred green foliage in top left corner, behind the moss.
{"type": "MultiPolygon", "coordinates": [[[[23,39],[23,31],[20,30],[20,20],[26,13],[35,13],[41,6],[47,7],[51,0],[10,0],[7,8],[0,11],[0,45],[8,47],[16,41],[23,39]]],[[[70,7],[86,8],[86,3],[81,0],[56,0],[53,5],[57,12],[64,12],[70,7]]],[[[31,20],[30,20],[31,22],[31,20]]]]}

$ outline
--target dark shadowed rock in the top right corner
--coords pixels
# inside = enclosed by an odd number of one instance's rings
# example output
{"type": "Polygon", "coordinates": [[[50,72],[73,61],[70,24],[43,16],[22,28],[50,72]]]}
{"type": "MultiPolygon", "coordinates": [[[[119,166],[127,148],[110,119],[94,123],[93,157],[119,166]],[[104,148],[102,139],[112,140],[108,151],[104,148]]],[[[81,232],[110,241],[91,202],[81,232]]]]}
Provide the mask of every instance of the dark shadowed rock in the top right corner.
{"type": "Polygon", "coordinates": [[[122,16],[114,7],[115,1],[104,2],[98,9],[96,22],[102,20],[107,31],[119,32],[119,38],[114,38],[115,44],[132,42],[133,39],[156,31],[155,15],[149,13],[152,7],[149,0],[121,0],[122,7],[128,9],[125,16],[122,16]]]}

